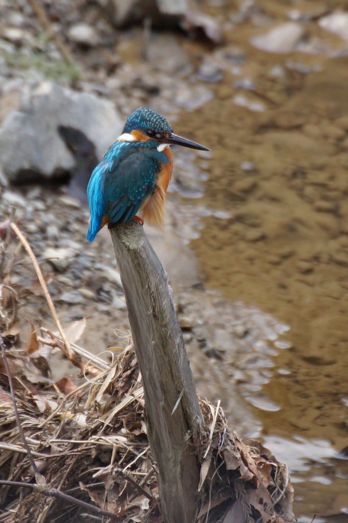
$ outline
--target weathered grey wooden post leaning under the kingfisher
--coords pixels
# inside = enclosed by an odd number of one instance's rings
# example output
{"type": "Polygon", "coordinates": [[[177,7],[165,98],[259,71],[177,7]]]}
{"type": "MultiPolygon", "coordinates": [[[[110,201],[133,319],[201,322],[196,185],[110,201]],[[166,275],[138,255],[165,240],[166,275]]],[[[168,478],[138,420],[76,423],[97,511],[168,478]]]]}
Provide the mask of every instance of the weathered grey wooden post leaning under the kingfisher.
{"type": "Polygon", "coordinates": [[[203,415],[168,277],[140,222],[110,232],[144,385],[161,514],[165,523],[192,523],[200,479],[195,444],[203,415]]]}

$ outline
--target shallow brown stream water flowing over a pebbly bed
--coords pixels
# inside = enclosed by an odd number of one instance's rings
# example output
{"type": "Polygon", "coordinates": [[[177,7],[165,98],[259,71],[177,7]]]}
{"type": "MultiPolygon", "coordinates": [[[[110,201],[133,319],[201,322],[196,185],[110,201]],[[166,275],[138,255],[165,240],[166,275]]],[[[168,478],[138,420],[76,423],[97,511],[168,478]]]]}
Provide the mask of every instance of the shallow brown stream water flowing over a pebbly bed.
{"type": "MultiPolygon", "coordinates": [[[[314,10],[322,3],[258,5],[264,16],[284,22],[289,8],[314,10]]],[[[232,10],[226,5],[219,13],[227,20],[232,10]]],[[[292,348],[274,359],[289,373],[275,373],[264,388],[281,410],[255,409],[263,434],[304,438],[301,445],[326,440],[341,450],[348,446],[348,58],[273,54],[249,45],[251,36],[268,30],[250,19],[226,30],[226,43],[247,56],[241,75],[224,72],[210,84],[215,98],[176,123],[176,132],[213,151],[204,204],[231,213],[225,221],[204,218],[204,232],[191,246],[207,286],[291,326],[292,348]],[[311,72],[286,66],[289,59],[311,72]],[[272,75],[275,66],[281,74],[272,75]],[[235,88],[246,76],[256,88],[235,88]],[[238,107],[238,94],[265,110],[238,107]],[[250,164],[242,168],[243,162],[250,164]]],[[[342,47],[315,20],[306,31],[309,39],[319,35],[342,47]]],[[[196,44],[187,48],[203,52],[196,44]]],[[[294,453],[289,446],[288,459],[294,453]]],[[[343,461],[331,465],[303,471],[312,481],[295,485],[297,515],[346,517],[348,470],[343,461]]]]}

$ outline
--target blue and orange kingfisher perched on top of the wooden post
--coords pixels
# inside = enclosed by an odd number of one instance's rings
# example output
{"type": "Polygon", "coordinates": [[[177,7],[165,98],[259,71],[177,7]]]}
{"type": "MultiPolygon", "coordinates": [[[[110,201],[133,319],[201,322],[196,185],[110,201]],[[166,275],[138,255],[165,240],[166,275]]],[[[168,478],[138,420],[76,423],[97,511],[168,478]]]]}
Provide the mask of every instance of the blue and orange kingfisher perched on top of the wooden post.
{"type": "Polygon", "coordinates": [[[173,134],[166,118],[155,111],[138,107],[132,112],[88,183],[89,242],[106,224],[112,229],[136,219],[162,226],[173,172],[170,145],[210,150],[173,134]]]}

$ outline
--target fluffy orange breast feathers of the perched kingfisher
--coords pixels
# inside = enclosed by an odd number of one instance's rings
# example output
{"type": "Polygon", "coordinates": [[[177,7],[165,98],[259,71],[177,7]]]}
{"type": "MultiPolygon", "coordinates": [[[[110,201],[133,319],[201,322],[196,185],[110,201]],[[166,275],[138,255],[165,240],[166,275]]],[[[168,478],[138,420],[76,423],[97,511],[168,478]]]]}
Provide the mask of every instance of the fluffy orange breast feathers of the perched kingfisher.
{"type": "Polygon", "coordinates": [[[173,157],[170,147],[163,151],[169,158],[169,163],[162,164],[158,174],[154,192],[148,196],[140,208],[143,219],[150,225],[163,227],[165,217],[166,190],[173,172],[173,157]]]}

